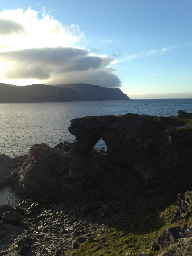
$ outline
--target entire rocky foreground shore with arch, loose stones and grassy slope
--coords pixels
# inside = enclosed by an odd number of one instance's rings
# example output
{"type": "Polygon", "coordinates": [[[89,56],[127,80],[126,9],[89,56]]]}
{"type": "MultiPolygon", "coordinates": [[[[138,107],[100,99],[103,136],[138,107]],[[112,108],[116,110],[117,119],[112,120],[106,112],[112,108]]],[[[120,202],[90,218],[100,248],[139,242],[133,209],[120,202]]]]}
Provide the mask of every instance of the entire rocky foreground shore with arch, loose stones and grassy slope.
{"type": "Polygon", "coordinates": [[[192,255],[191,115],[76,118],[73,143],[0,155],[24,198],[0,206],[0,255],[192,255]]]}

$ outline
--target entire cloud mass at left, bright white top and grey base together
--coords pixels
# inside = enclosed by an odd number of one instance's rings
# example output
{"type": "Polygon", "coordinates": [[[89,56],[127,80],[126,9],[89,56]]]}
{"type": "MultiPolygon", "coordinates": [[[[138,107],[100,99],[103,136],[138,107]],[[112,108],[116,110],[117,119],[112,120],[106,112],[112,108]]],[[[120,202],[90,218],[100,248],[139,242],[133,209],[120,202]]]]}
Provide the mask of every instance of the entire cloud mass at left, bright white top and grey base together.
{"type": "MultiPolygon", "coordinates": [[[[0,77],[11,84],[90,83],[120,87],[110,67],[116,60],[96,55],[77,43],[84,37],[78,25],[64,25],[46,7],[0,12],[0,77]],[[6,26],[4,26],[4,25],[6,26]],[[8,28],[5,29],[4,27],[8,28]]],[[[112,42],[106,39],[107,42],[112,42]]],[[[104,40],[105,41],[105,40],[104,40]]]]}

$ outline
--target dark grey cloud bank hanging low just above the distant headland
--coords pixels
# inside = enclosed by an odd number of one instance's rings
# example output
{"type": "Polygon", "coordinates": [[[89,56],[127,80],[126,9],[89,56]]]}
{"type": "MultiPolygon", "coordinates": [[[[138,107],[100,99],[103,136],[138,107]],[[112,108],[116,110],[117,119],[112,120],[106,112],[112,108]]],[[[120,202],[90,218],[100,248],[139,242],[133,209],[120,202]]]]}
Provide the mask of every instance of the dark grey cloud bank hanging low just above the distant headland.
{"type": "Polygon", "coordinates": [[[120,87],[121,81],[109,65],[113,58],[89,55],[73,47],[33,48],[0,53],[8,64],[4,78],[40,79],[49,84],[88,83],[120,87]]]}

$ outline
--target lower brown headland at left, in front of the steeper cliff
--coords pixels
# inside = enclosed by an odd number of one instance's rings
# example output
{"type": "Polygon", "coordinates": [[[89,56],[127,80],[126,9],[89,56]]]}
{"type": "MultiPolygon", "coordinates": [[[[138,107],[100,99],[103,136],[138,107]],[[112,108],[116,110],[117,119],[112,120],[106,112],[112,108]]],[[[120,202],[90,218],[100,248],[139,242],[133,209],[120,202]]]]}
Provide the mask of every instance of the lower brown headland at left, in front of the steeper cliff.
{"type": "Polygon", "coordinates": [[[79,101],[79,95],[69,88],[45,84],[16,86],[0,83],[0,103],[79,101]]]}

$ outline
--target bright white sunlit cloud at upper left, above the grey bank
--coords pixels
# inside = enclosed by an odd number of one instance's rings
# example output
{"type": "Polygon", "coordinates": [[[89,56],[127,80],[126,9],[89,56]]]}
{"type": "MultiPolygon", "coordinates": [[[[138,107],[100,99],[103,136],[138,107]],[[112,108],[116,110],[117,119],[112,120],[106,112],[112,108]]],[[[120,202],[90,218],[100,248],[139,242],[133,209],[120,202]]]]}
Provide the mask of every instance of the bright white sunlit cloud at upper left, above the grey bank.
{"type": "Polygon", "coordinates": [[[12,28],[14,33],[1,36],[1,44],[6,45],[6,48],[0,48],[1,51],[69,46],[77,43],[84,36],[78,25],[64,26],[46,14],[44,9],[40,13],[30,7],[26,11],[6,10],[0,13],[0,19],[22,26],[25,30],[21,35],[17,31],[14,32],[12,28]]]}

